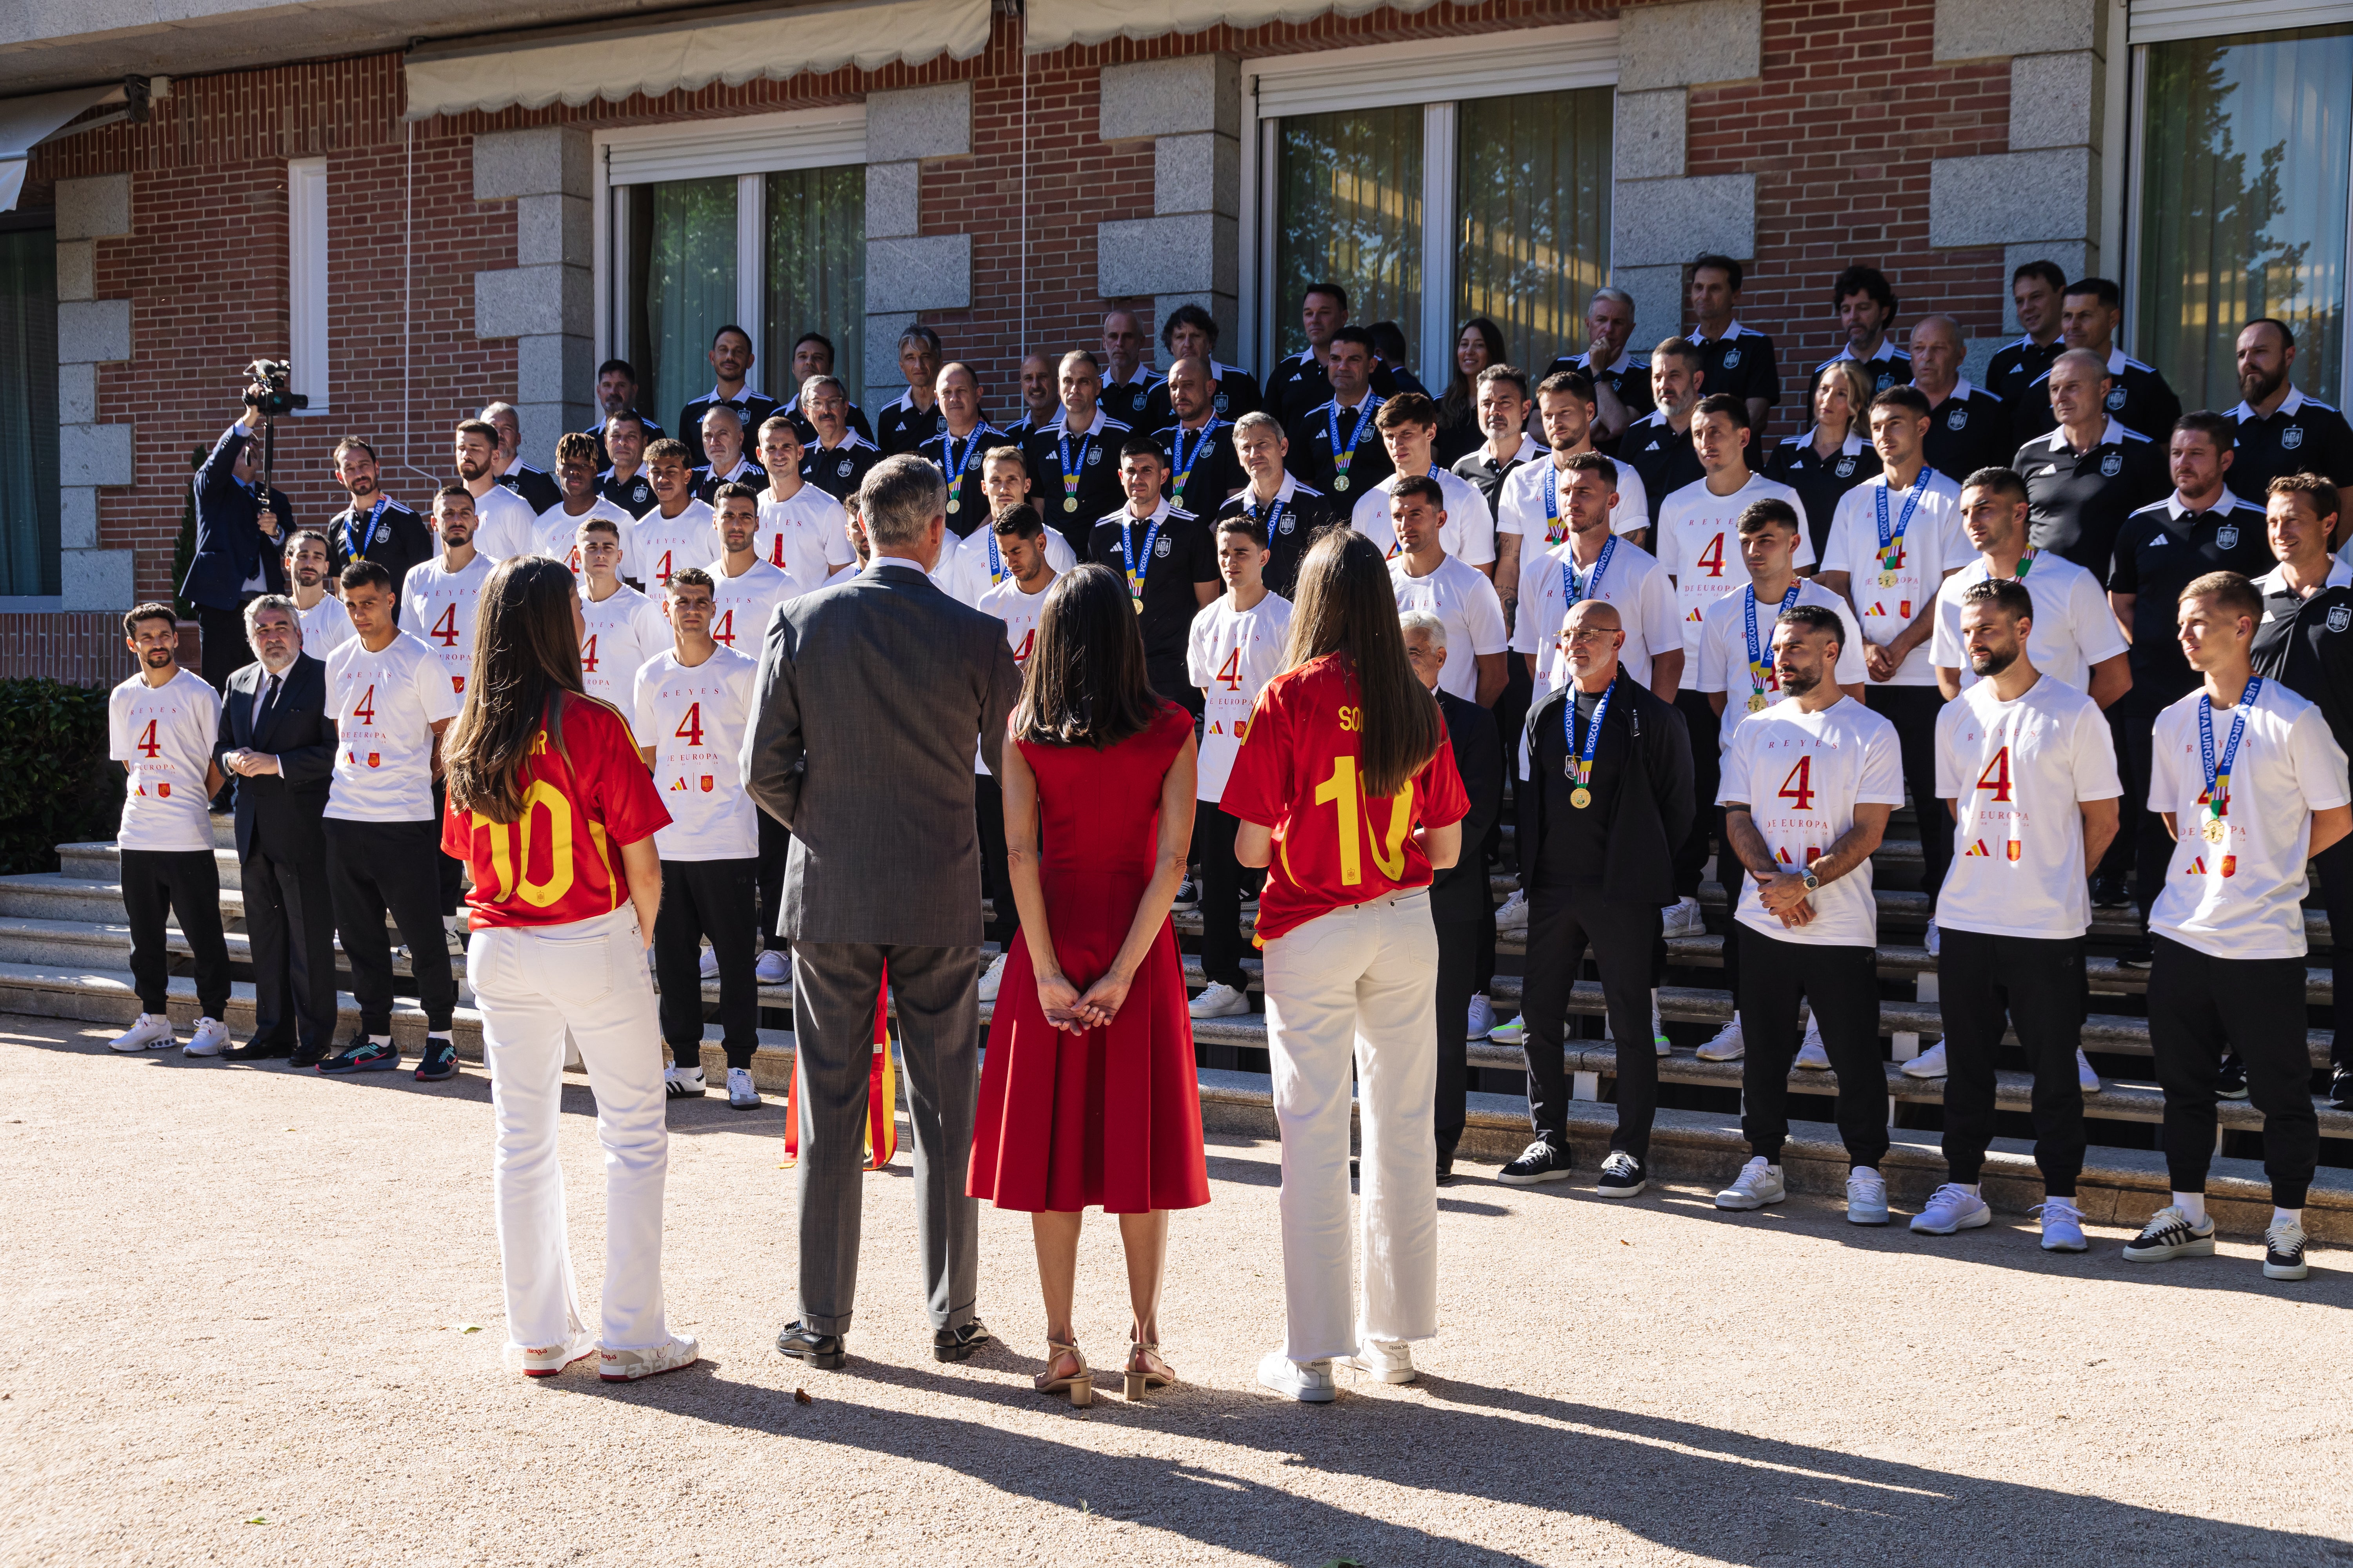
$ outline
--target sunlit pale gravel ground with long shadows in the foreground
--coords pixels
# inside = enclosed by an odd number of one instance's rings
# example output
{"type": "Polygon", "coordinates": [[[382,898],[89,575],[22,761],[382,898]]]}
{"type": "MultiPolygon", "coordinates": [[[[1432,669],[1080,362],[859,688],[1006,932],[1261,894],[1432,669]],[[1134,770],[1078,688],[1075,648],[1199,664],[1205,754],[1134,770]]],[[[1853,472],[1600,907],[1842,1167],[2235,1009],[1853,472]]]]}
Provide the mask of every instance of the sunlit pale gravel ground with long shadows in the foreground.
{"type": "MultiPolygon", "coordinates": [[[[489,1084],[118,1058],[0,1016],[5,1563],[2348,1563],[2353,1272],[2259,1251],[2047,1258],[2014,1222],[1864,1232],[1485,1178],[1440,1194],[1445,1335],[1409,1387],[1254,1392],[1280,1331],[1278,1152],[1219,1138],[1174,1222],[1181,1387],[1028,1389],[1028,1225],[981,1213],[1009,1342],[929,1359],[911,1182],[868,1180],[842,1373],[788,1312],[781,1105],[673,1107],[671,1321],[701,1366],[504,1363],[489,1084]],[[807,1389],[812,1403],[798,1403],[807,1389]]],[[[602,1260],[584,1079],[565,1173],[602,1260]]],[[[1080,1338],[1118,1363],[1099,1218],[1080,1338]]]]}

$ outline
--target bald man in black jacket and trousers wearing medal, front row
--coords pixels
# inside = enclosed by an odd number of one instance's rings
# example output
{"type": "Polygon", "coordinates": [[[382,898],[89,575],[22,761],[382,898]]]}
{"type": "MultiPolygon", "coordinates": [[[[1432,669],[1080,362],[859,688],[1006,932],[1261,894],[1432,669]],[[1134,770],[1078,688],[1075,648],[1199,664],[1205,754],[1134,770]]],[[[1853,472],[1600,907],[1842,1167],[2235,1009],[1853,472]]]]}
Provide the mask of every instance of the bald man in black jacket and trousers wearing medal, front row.
{"type": "MultiPolygon", "coordinates": [[[[1617,1037],[1619,1124],[1600,1197],[1649,1185],[1659,1056],[1649,1032],[1659,907],[1675,898],[1675,846],[1692,830],[1692,738],[1673,703],[1619,679],[1626,630],[1614,604],[1584,599],[1562,618],[1569,684],[1527,715],[1534,889],[1527,896],[1527,1117],[1534,1143],[1504,1166],[1525,1187],[1569,1173],[1562,1034],[1586,947],[1602,973],[1617,1037]]],[[[1440,1016],[1440,1027],[1445,1018],[1440,1016]]]]}

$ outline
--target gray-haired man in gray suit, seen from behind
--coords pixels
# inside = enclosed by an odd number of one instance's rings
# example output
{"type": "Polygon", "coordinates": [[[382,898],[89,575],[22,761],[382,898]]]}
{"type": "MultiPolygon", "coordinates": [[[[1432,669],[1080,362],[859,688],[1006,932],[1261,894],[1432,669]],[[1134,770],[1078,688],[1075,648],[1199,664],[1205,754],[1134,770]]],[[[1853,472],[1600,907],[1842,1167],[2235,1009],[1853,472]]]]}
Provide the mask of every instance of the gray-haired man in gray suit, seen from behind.
{"type": "Polygon", "coordinates": [[[859,1276],[866,1079],[882,969],[899,1006],[915,1131],[915,1239],[932,1354],[962,1361],[979,1206],[965,1197],[981,1037],[974,748],[998,769],[1021,675],[1005,623],[927,576],[948,487],[918,456],[859,487],[873,564],[767,623],[744,780],[793,832],[779,936],[793,938],[800,1077],[800,1316],[776,1349],[840,1366],[859,1276]]]}

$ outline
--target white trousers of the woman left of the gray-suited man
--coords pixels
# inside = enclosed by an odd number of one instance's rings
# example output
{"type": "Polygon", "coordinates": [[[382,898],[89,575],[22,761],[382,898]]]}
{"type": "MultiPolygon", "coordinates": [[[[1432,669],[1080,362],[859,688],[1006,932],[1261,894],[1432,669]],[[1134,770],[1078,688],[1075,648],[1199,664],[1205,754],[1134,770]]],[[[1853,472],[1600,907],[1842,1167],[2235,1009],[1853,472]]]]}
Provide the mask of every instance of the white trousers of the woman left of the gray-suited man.
{"type": "Polygon", "coordinates": [[[515,1347],[581,1338],[579,1284],[565,1232],[555,1131],[565,1100],[565,1030],[595,1091],[605,1145],[605,1349],[668,1342],[661,1309],[661,1187],[671,1171],[661,1025],[645,973],[638,912],[565,926],[473,933],[466,973],[482,1009],[489,1103],[499,1126],[492,1190],[506,1267],[506,1335],[515,1347]]]}

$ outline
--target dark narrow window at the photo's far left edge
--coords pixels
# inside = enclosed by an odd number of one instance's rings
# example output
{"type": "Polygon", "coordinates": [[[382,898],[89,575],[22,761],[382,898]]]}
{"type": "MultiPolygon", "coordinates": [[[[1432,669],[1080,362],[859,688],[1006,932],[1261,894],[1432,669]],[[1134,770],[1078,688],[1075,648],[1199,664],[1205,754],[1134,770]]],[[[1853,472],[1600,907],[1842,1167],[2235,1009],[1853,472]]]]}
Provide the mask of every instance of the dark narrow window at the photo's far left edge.
{"type": "Polygon", "coordinates": [[[56,595],[56,230],[0,233],[0,595],[56,595]]]}

